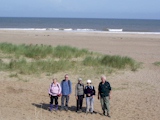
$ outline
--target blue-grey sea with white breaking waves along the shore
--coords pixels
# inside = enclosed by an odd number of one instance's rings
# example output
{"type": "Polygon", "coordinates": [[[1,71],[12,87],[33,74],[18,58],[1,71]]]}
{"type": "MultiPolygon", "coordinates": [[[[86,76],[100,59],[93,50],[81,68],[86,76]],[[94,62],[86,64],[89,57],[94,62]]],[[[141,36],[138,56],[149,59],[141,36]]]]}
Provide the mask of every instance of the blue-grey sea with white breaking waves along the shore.
{"type": "Polygon", "coordinates": [[[0,30],[160,34],[160,20],[106,18],[0,17],[0,30]]]}

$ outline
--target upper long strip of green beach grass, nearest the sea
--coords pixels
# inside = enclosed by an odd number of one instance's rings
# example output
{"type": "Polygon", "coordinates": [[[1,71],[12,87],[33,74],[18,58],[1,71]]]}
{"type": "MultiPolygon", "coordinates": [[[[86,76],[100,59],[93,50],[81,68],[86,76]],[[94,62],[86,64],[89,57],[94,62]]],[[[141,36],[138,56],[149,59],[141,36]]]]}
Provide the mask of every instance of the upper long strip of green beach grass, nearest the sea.
{"type": "Polygon", "coordinates": [[[15,54],[15,56],[25,56],[33,59],[46,58],[47,56],[54,58],[77,58],[86,54],[92,54],[86,49],[78,49],[70,46],[57,46],[50,45],[13,45],[11,43],[0,43],[0,50],[3,53],[15,54]]]}

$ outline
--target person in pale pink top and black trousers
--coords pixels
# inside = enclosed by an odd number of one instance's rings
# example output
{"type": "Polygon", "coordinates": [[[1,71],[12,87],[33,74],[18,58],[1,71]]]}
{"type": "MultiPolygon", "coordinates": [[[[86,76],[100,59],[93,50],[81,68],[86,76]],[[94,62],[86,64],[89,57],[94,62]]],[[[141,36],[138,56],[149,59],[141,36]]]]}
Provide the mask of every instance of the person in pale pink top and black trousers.
{"type": "Polygon", "coordinates": [[[56,78],[54,78],[53,82],[50,84],[48,94],[50,97],[49,110],[58,110],[58,97],[61,95],[61,85],[57,82],[56,78]],[[55,101],[55,105],[53,105],[53,101],[55,101]]]}

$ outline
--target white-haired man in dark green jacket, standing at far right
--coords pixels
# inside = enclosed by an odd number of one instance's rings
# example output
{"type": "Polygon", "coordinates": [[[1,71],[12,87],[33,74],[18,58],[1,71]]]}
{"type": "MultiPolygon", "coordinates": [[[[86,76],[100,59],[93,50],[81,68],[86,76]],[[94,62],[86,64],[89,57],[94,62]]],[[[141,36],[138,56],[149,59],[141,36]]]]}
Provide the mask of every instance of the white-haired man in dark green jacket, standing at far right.
{"type": "Polygon", "coordinates": [[[111,86],[106,81],[106,76],[101,76],[101,82],[98,86],[98,99],[100,99],[103,115],[110,117],[109,101],[111,99],[111,86]]]}

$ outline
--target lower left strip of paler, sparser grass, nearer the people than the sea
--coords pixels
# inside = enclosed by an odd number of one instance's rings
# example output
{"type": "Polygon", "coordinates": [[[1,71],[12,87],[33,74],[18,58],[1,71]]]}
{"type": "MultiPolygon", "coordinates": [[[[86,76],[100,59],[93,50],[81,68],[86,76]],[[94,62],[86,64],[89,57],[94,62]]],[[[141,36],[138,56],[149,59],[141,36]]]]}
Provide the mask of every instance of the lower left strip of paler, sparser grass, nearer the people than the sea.
{"type": "Polygon", "coordinates": [[[27,62],[26,59],[11,60],[9,64],[5,64],[5,69],[18,72],[19,74],[35,74],[35,73],[57,73],[59,71],[70,70],[74,64],[67,60],[37,60],[27,62]]]}

